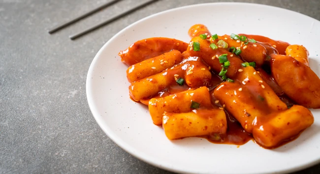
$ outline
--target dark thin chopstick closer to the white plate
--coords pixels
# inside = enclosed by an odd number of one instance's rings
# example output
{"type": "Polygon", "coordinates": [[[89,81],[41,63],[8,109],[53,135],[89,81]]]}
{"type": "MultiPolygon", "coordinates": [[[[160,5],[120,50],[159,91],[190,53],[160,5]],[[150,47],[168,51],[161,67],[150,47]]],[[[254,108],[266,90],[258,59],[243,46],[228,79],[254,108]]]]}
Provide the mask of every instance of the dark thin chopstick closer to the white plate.
{"type": "Polygon", "coordinates": [[[99,28],[99,27],[101,27],[101,26],[103,26],[103,25],[107,25],[107,24],[109,24],[109,23],[111,23],[111,22],[113,22],[113,21],[115,21],[115,20],[117,20],[117,19],[119,19],[119,18],[121,18],[121,17],[129,14],[129,13],[132,13],[133,11],[135,11],[135,10],[137,10],[137,9],[139,9],[139,8],[142,8],[143,6],[149,5],[149,4],[151,4],[151,3],[155,2],[155,1],[157,1],[157,0],[148,0],[148,1],[144,2],[144,3],[142,3],[142,4],[139,4],[139,5],[131,8],[131,9],[128,9],[128,10],[125,11],[125,12],[122,12],[122,13],[120,13],[120,14],[118,14],[118,15],[115,15],[115,16],[113,16],[113,17],[105,20],[104,22],[102,22],[102,23],[100,23],[100,24],[97,24],[97,25],[95,25],[95,26],[93,26],[93,27],[87,28],[87,29],[85,29],[84,31],[81,31],[81,32],[79,32],[79,33],[73,34],[73,35],[69,36],[69,38],[70,38],[71,40],[74,40],[74,39],[76,39],[76,38],[78,38],[78,37],[81,37],[81,36],[83,36],[83,35],[91,32],[91,31],[96,30],[97,28],[99,28]]]}

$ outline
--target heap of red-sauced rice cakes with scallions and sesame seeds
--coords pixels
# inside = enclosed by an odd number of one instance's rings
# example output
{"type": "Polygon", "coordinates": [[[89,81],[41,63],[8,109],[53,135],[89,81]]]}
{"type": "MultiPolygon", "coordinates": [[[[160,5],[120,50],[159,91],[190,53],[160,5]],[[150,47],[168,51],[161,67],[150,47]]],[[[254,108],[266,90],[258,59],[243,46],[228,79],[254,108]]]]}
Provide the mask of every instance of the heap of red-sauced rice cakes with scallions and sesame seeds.
{"type": "Polygon", "coordinates": [[[203,137],[273,149],[311,126],[320,79],[308,50],[264,36],[211,34],[193,25],[191,41],[149,38],[120,51],[130,98],[148,105],[168,139],[203,137]]]}

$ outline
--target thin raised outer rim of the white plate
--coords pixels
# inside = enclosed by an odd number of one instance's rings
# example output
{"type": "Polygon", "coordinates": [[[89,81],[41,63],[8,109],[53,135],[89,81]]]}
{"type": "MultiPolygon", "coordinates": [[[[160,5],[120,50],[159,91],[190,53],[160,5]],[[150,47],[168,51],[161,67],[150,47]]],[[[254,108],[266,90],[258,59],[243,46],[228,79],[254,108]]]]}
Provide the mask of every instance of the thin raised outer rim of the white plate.
{"type": "MultiPolygon", "coordinates": [[[[125,150],[126,152],[128,152],[130,155],[138,158],[139,160],[142,160],[143,162],[146,162],[152,166],[155,166],[155,167],[158,167],[160,169],[163,169],[163,170],[166,170],[166,171],[170,171],[170,172],[175,172],[175,173],[187,173],[187,174],[192,174],[191,171],[182,171],[182,170],[179,170],[179,169],[175,169],[175,168],[170,168],[170,166],[165,166],[165,165],[161,165],[161,164],[158,164],[154,161],[154,157],[150,156],[150,155],[147,155],[143,152],[135,152],[134,149],[132,149],[130,146],[128,146],[128,144],[123,141],[122,139],[119,139],[117,138],[116,135],[113,135],[112,131],[110,130],[109,126],[102,126],[102,120],[97,116],[98,113],[96,113],[97,111],[94,109],[94,104],[93,104],[93,100],[94,100],[94,97],[93,95],[91,94],[91,91],[92,91],[92,88],[90,87],[90,76],[91,73],[93,72],[93,69],[94,69],[94,64],[95,62],[97,61],[98,57],[101,55],[102,51],[106,49],[106,47],[108,46],[108,44],[110,42],[112,42],[114,39],[116,39],[119,35],[121,35],[122,32],[124,32],[125,30],[127,30],[128,28],[138,24],[138,23],[141,23],[143,22],[144,20],[147,20],[147,19],[150,19],[150,18],[153,18],[155,16],[158,16],[158,15],[161,15],[163,13],[168,13],[168,12],[171,12],[171,11],[175,11],[175,10],[180,10],[180,9],[183,9],[183,8],[192,8],[192,7],[197,7],[197,6],[204,6],[204,5],[215,5],[215,4],[219,4],[219,5],[229,5],[229,4],[241,4],[241,5],[250,5],[250,6],[263,6],[263,7],[266,7],[266,8],[274,8],[274,9],[279,9],[279,10],[285,10],[285,11],[288,11],[288,12],[293,12],[293,13],[296,13],[296,14],[299,14],[299,15],[302,15],[304,17],[307,17],[307,18],[310,18],[312,20],[315,20],[317,22],[320,22],[318,21],[317,19],[315,18],[312,18],[310,16],[307,16],[305,14],[302,14],[302,13],[298,13],[296,11],[292,11],[292,10],[289,10],[289,9],[285,9],[285,8],[281,8],[281,7],[277,7],[277,6],[271,6],[271,5],[266,5],[266,4],[258,4],[258,3],[250,3],[250,2],[208,2],[208,3],[198,3],[198,4],[192,4],[192,5],[185,5],[185,6],[181,6],[181,7],[176,7],[176,8],[171,8],[171,9],[168,9],[168,10],[164,10],[164,11],[161,11],[161,12],[158,12],[158,13],[155,13],[155,14],[152,14],[152,15],[149,15],[147,17],[144,17],[128,26],[126,26],[125,28],[121,29],[119,32],[117,32],[117,34],[115,34],[113,37],[111,37],[101,48],[100,50],[96,53],[93,61],[91,62],[90,64],[90,67],[89,67],[89,70],[88,70],[88,74],[87,74],[87,78],[86,78],[86,97],[87,97],[87,101],[88,101],[88,105],[89,105],[89,108],[91,110],[91,113],[93,115],[93,117],[95,118],[96,120],[96,123],[99,125],[99,127],[104,131],[104,133],[116,144],[118,145],[121,149],[125,150]]],[[[290,169],[282,169],[282,170],[279,170],[279,171],[273,171],[273,172],[261,172],[259,174],[282,174],[282,173],[292,173],[292,172],[296,172],[296,171],[300,171],[300,170],[303,170],[303,169],[306,169],[306,168],[309,168],[311,166],[314,166],[316,164],[320,163],[320,158],[318,160],[314,160],[313,162],[310,162],[308,164],[304,164],[304,165],[298,165],[298,166],[295,166],[293,168],[290,168],[290,169]]]]}

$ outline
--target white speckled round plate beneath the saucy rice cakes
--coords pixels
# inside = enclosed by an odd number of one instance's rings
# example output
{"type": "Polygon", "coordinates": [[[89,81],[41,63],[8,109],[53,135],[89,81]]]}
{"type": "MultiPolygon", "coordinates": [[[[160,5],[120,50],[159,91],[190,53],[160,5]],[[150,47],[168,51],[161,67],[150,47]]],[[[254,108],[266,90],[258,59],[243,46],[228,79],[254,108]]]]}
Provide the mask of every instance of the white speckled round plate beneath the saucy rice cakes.
{"type": "Polygon", "coordinates": [[[207,3],[164,11],[129,25],[96,54],[87,76],[87,97],[103,131],[135,157],[180,173],[287,173],[318,163],[320,110],[312,110],[315,123],[298,139],[268,150],[253,141],[240,148],[200,138],[169,141],[162,128],[152,123],[148,108],[129,99],[127,66],[121,63],[118,52],[149,37],[189,42],[188,29],[194,24],[204,24],[219,35],[257,34],[302,44],[310,51],[311,68],[320,75],[320,22],[313,18],[252,3],[207,3]]]}

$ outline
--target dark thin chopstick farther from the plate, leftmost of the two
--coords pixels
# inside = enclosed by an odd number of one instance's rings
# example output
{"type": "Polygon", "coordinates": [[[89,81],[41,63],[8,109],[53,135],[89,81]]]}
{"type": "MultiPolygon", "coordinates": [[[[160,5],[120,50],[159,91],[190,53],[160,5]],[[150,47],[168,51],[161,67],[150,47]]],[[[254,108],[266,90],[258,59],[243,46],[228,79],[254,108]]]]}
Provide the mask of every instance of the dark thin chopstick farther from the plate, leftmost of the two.
{"type": "Polygon", "coordinates": [[[118,2],[118,1],[120,1],[120,0],[111,0],[110,2],[104,3],[104,4],[100,5],[99,7],[95,8],[95,9],[93,9],[93,10],[91,10],[91,11],[89,11],[89,12],[83,14],[83,15],[81,15],[81,16],[79,16],[79,17],[77,17],[77,18],[74,18],[74,19],[71,20],[71,21],[65,22],[64,24],[61,24],[61,25],[58,25],[58,26],[52,28],[52,29],[49,30],[48,32],[49,32],[50,34],[52,34],[52,33],[56,32],[56,31],[59,31],[60,29],[66,27],[66,26],[68,26],[68,25],[71,25],[71,24],[73,24],[73,23],[75,23],[75,22],[77,22],[77,21],[79,21],[79,20],[81,20],[81,19],[83,19],[83,18],[86,18],[86,17],[88,17],[88,16],[90,16],[90,15],[98,12],[99,10],[102,10],[103,8],[106,8],[106,7],[108,7],[108,6],[116,3],[116,2],[118,2]]]}

